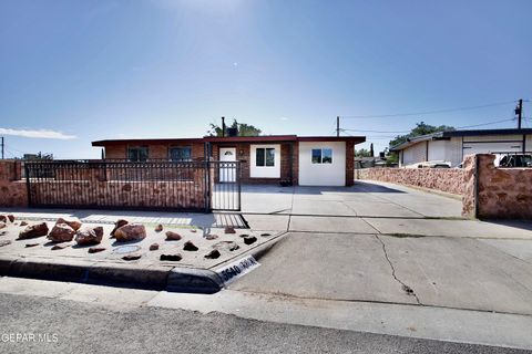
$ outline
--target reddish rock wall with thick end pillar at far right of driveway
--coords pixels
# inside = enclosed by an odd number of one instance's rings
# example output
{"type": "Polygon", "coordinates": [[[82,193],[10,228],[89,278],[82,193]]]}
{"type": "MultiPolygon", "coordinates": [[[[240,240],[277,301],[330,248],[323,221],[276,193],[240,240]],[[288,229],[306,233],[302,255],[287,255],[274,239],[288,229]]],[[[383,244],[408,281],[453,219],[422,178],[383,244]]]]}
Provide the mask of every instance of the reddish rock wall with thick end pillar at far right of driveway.
{"type": "Polygon", "coordinates": [[[489,154],[466,156],[462,215],[532,219],[532,168],[497,168],[494,159],[489,154]]]}

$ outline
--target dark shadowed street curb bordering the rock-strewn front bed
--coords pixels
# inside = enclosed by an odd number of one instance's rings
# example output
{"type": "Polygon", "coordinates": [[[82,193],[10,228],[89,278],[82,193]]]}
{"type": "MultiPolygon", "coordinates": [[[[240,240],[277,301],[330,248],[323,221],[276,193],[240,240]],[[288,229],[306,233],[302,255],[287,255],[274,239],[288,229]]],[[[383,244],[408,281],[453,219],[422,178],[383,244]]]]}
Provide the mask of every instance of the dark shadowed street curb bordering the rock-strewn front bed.
{"type": "Polygon", "coordinates": [[[207,269],[41,258],[1,257],[0,275],[205,294],[223,288],[218,274],[207,269]]]}

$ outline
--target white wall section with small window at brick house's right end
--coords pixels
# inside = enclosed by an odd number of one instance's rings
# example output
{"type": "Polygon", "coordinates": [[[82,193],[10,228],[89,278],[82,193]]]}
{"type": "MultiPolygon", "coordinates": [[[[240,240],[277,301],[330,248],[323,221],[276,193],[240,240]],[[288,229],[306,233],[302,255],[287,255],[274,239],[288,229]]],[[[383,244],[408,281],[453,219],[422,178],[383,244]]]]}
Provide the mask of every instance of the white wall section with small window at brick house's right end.
{"type": "Polygon", "coordinates": [[[299,143],[300,186],[345,186],[345,142],[299,143]]]}

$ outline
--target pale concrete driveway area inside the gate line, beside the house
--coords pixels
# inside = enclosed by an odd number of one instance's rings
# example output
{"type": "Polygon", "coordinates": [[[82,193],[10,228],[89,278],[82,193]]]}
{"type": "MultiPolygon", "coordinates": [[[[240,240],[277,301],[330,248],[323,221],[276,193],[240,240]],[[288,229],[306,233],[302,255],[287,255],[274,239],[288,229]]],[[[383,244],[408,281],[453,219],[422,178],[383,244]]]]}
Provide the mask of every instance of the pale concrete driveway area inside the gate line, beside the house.
{"type": "Polygon", "coordinates": [[[461,201],[386,183],[352,187],[243,186],[244,214],[358,217],[460,217],[461,201]]]}

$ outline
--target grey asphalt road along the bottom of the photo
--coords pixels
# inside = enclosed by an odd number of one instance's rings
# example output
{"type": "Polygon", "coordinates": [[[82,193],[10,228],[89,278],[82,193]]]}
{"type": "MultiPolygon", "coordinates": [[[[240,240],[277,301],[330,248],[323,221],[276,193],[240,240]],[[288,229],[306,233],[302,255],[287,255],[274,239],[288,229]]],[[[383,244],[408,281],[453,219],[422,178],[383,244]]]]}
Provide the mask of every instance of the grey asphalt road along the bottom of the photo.
{"type": "MultiPolygon", "coordinates": [[[[120,301],[120,299],[116,299],[120,301]]],[[[525,353],[244,320],[225,314],[0,294],[1,353],[525,353]],[[57,342],[4,342],[47,333],[57,342]]]]}

